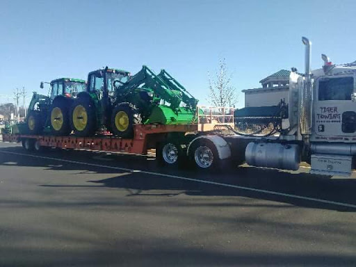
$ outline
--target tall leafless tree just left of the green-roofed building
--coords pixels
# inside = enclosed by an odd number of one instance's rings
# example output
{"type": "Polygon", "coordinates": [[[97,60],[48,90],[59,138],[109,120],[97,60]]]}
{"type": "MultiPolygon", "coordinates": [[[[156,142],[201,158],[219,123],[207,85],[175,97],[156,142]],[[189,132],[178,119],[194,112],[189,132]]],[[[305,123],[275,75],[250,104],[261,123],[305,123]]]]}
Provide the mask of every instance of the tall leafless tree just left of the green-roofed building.
{"type": "Polygon", "coordinates": [[[209,98],[212,106],[231,107],[237,102],[236,88],[232,86],[232,73],[228,73],[225,58],[219,60],[215,76],[209,76],[209,98]]]}

